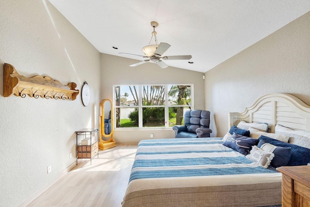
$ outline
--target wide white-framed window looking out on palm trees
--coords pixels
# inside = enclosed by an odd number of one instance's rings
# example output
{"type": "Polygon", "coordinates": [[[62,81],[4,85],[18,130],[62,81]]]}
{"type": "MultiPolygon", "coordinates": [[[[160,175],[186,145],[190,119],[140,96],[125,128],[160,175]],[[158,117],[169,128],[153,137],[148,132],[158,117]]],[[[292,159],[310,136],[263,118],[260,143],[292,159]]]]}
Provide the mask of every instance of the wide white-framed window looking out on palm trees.
{"type": "Polygon", "coordinates": [[[192,109],[192,84],[114,85],[116,128],[183,125],[192,109]]]}

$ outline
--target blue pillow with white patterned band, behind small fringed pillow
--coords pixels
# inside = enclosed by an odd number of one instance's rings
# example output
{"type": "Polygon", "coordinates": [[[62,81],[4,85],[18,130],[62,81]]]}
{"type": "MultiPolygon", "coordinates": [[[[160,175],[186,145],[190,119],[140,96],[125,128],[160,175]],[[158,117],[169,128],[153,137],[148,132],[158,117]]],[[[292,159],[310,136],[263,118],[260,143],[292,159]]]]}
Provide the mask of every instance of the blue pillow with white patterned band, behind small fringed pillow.
{"type": "Polygon", "coordinates": [[[291,158],[291,151],[292,151],[291,147],[276,146],[276,145],[273,145],[271,143],[267,143],[267,142],[263,141],[262,139],[257,144],[257,147],[260,147],[264,151],[271,152],[271,153],[275,154],[275,157],[271,160],[271,163],[270,163],[270,165],[275,167],[275,168],[281,167],[281,166],[286,166],[287,163],[289,162],[290,158],[291,158]],[[265,150],[266,147],[264,147],[263,144],[269,145],[270,150],[265,150]],[[262,145],[263,145],[263,147],[262,147],[262,145]],[[275,148],[272,148],[272,147],[275,147],[275,148]]]}

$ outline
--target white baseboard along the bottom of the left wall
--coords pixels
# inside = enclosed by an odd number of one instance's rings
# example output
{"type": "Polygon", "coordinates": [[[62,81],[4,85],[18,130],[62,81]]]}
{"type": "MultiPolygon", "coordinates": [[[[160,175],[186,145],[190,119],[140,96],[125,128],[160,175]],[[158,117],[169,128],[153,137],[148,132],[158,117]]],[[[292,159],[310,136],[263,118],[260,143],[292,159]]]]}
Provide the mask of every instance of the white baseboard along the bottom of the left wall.
{"type": "Polygon", "coordinates": [[[46,191],[49,187],[51,187],[55,182],[57,182],[63,175],[67,174],[72,168],[77,166],[76,161],[74,161],[69,167],[64,169],[60,174],[58,174],[56,177],[51,179],[47,184],[45,184],[42,188],[35,191],[31,196],[29,196],[23,203],[19,204],[18,207],[26,207],[28,204],[31,203],[34,199],[36,199],[39,195],[41,195],[44,191],[46,191]]]}

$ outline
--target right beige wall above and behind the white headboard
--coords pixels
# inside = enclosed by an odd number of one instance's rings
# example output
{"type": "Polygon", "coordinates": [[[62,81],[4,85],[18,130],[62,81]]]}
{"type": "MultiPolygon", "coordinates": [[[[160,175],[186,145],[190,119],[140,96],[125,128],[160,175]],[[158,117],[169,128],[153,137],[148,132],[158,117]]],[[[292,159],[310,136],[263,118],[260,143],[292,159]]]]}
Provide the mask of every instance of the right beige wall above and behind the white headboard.
{"type": "Polygon", "coordinates": [[[310,13],[205,73],[205,104],[213,136],[228,131],[228,112],[260,96],[289,93],[310,105],[310,13]]]}

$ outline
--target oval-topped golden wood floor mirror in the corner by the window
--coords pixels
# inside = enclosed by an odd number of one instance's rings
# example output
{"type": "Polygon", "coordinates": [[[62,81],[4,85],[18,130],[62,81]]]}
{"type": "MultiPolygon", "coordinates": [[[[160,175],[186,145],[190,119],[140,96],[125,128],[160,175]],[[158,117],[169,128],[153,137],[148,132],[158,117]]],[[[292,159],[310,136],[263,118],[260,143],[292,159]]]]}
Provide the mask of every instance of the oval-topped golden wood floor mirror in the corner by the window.
{"type": "Polygon", "coordinates": [[[101,150],[115,147],[113,139],[113,104],[110,99],[103,99],[99,105],[99,144],[101,150]]]}

